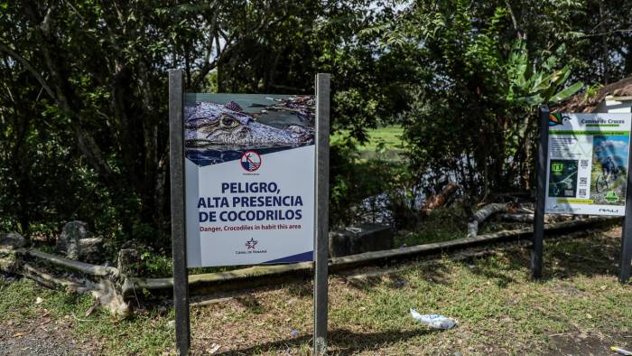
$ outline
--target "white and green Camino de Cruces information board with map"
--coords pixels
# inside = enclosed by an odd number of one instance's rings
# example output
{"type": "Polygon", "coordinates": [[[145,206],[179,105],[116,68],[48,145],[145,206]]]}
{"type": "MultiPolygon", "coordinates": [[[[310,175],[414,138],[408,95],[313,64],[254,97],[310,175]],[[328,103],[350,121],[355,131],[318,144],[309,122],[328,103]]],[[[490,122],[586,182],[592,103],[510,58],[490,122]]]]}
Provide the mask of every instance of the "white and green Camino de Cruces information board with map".
{"type": "Polygon", "coordinates": [[[625,215],[631,114],[549,115],[546,213],[625,215]]]}

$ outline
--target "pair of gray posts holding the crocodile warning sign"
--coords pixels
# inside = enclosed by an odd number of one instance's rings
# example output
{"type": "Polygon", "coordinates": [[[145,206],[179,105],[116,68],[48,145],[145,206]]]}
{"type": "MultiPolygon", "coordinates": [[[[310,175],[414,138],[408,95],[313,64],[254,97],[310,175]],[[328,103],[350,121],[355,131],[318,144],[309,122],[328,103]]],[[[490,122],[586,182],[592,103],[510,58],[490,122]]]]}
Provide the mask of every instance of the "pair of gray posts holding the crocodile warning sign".
{"type": "MultiPolygon", "coordinates": [[[[187,266],[186,193],[184,169],[184,74],[169,73],[169,132],[172,209],[173,304],[176,350],[188,355],[191,349],[189,274],[187,266]]],[[[316,84],[315,199],[314,199],[314,337],[313,354],[327,351],[328,262],[329,262],[329,176],[330,176],[330,74],[319,73],[316,84]]]]}

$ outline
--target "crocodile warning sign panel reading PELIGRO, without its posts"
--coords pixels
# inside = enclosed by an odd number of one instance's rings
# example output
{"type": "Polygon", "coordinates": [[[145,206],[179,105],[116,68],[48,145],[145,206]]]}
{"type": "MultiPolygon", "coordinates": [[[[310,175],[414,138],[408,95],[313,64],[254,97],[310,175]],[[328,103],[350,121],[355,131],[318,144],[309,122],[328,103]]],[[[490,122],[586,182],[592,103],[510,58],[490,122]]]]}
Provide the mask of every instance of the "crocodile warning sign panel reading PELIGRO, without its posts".
{"type": "Polygon", "coordinates": [[[313,96],[185,94],[187,266],[311,261],[313,96]]]}

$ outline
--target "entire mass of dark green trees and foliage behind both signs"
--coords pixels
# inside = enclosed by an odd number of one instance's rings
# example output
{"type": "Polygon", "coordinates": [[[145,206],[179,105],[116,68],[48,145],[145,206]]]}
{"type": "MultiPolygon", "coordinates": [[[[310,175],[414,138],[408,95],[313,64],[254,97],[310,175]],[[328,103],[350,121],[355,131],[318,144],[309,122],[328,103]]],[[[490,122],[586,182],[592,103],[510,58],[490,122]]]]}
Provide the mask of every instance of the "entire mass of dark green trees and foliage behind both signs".
{"type": "Polygon", "coordinates": [[[86,220],[112,248],[169,248],[169,68],[210,92],[311,93],[332,73],[333,222],[381,192],[405,217],[449,180],[472,201],[530,189],[534,108],[632,74],[631,6],[0,2],[0,229],[86,220]],[[352,147],[385,124],[404,126],[406,169],[352,147]]]}

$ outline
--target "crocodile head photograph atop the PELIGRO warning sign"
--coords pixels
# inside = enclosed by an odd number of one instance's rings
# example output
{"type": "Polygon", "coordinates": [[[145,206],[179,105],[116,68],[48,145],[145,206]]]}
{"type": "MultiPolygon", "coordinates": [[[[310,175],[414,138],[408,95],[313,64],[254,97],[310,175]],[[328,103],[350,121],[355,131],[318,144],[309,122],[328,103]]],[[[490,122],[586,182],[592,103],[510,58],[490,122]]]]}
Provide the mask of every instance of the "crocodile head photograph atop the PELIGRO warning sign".
{"type": "Polygon", "coordinates": [[[313,145],[315,111],[313,96],[188,94],[185,155],[204,166],[313,145]]]}

